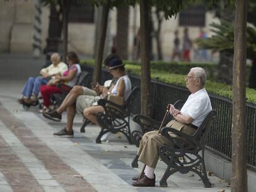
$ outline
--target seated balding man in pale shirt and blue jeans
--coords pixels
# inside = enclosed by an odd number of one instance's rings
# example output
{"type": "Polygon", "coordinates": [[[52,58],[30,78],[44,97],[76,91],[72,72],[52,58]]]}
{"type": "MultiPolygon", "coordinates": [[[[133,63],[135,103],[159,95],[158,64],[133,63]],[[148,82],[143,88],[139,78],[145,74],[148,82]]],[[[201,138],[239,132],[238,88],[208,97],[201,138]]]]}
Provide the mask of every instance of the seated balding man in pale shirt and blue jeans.
{"type": "Polygon", "coordinates": [[[61,62],[61,56],[58,53],[55,52],[51,55],[51,62],[51,65],[41,69],[40,75],[42,76],[28,78],[23,86],[23,96],[21,99],[18,99],[20,104],[23,104],[24,102],[27,104],[35,103],[39,94],[40,86],[46,85],[54,75],[62,74],[67,70],[67,65],[64,62],[61,62]]]}

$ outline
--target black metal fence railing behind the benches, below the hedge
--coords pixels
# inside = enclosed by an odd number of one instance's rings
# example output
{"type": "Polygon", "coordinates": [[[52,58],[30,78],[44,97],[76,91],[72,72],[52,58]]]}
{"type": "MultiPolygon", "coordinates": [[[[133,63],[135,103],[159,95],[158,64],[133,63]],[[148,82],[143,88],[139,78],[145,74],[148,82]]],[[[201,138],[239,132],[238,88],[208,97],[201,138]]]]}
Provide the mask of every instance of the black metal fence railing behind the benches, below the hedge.
{"type": "MultiPolygon", "coordinates": [[[[129,75],[132,85],[140,88],[140,77],[129,75]]],[[[106,70],[103,70],[102,81],[110,79],[111,76],[106,70]]],[[[156,80],[151,81],[153,119],[162,120],[166,106],[169,103],[182,99],[186,101],[189,96],[187,88],[181,86],[161,83],[156,80]]],[[[210,134],[207,140],[208,149],[215,151],[226,159],[231,160],[232,149],[232,100],[209,94],[211,105],[216,110],[216,119],[213,122],[210,134]]],[[[132,114],[140,114],[140,95],[134,101],[132,114]]],[[[246,104],[247,120],[247,163],[249,167],[256,169],[256,105],[246,104]]]]}

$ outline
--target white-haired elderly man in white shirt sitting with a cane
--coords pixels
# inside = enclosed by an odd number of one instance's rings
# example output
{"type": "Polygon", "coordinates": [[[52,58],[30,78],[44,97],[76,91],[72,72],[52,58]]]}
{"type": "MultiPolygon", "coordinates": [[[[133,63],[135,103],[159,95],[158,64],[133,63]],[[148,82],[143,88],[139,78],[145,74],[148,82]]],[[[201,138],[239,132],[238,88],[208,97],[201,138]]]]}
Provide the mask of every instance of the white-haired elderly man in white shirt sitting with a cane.
{"type": "MultiPolygon", "coordinates": [[[[188,135],[193,135],[198,127],[211,111],[211,102],[207,91],[204,88],[207,75],[201,67],[190,69],[186,76],[186,86],[191,92],[181,111],[171,105],[169,112],[173,115],[174,120],[168,123],[166,127],[175,128],[188,135]]],[[[170,134],[175,136],[174,134],[170,134]]],[[[158,162],[158,148],[162,144],[169,144],[169,140],[158,131],[150,131],[143,135],[140,141],[140,147],[137,152],[139,161],[143,162],[146,167],[142,177],[134,177],[133,186],[155,186],[155,167],[158,162]]]]}

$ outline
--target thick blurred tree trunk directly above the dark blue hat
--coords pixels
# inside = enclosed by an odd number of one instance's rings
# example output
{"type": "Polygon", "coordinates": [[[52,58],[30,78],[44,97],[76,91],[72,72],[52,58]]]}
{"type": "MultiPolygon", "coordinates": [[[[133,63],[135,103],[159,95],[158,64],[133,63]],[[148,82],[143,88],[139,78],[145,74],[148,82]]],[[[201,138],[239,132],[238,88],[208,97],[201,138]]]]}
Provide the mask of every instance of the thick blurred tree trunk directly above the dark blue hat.
{"type": "Polygon", "coordinates": [[[117,8],[117,54],[121,59],[128,59],[129,6],[117,8]]]}

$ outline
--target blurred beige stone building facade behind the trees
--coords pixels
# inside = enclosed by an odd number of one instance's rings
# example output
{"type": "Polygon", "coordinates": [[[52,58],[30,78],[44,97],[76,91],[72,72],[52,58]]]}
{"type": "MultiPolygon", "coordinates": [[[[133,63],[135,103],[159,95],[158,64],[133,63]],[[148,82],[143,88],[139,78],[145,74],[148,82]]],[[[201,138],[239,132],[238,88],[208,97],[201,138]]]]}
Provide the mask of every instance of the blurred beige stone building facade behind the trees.
{"type": "MultiPolygon", "coordinates": [[[[109,12],[108,31],[106,37],[105,55],[109,54],[113,36],[116,34],[116,9],[109,12]]],[[[99,24],[98,15],[100,9],[95,8],[93,22],[69,22],[69,50],[76,51],[81,55],[93,56],[94,45],[97,39],[96,28],[99,24]]],[[[92,14],[92,13],[91,13],[92,14]]],[[[92,15],[91,15],[92,16],[92,15]]],[[[186,16],[186,14],[185,14],[186,16]]],[[[187,16],[190,17],[190,16],[187,16]]],[[[201,26],[210,35],[209,24],[218,22],[213,14],[204,14],[204,25],[201,26]]],[[[10,0],[0,1],[0,52],[26,53],[33,52],[33,25],[35,22],[34,0],[10,0]]],[[[134,58],[134,38],[139,30],[140,14],[139,6],[130,7],[129,14],[129,58],[134,58]]],[[[189,21],[188,21],[189,22],[189,21]]],[[[164,20],[161,28],[161,44],[165,60],[169,60],[173,50],[174,30],[179,29],[179,38],[182,40],[184,23],[181,25],[181,14],[177,18],[164,20]]],[[[41,7],[41,49],[46,47],[49,25],[49,7],[41,7]]],[[[200,24],[199,24],[200,25],[200,24]]],[[[198,37],[200,26],[195,23],[189,27],[190,38],[198,37]]],[[[156,43],[153,40],[153,52],[156,55],[156,43]]],[[[156,58],[157,59],[157,58],[156,58]]]]}

